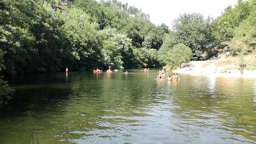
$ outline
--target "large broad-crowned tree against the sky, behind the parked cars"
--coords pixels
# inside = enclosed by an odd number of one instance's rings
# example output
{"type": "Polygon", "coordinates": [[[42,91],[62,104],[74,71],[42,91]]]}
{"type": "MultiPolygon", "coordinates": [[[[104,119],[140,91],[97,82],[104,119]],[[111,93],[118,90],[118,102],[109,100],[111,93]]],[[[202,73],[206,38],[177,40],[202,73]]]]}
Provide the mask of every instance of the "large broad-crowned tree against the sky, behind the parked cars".
{"type": "Polygon", "coordinates": [[[193,53],[206,52],[214,48],[212,28],[210,23],[212,18],[206,20],[202,14],[184,14],[174,20],[173,29],[176,34],[177,43],[185,44],[193,53]]]}

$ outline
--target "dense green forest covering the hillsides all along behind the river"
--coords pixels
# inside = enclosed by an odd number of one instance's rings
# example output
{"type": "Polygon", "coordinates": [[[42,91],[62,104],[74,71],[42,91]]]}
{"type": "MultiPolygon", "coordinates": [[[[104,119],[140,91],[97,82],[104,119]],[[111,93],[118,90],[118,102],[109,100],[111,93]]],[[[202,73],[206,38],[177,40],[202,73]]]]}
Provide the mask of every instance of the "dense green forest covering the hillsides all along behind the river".
{"type": "Polygon", "coordinates": [[[216,19],[180,14],[172,28],[117,0],[0,0],[2,74],[180,66],[192,54],[255,48],[256,0],[216,19]]]}

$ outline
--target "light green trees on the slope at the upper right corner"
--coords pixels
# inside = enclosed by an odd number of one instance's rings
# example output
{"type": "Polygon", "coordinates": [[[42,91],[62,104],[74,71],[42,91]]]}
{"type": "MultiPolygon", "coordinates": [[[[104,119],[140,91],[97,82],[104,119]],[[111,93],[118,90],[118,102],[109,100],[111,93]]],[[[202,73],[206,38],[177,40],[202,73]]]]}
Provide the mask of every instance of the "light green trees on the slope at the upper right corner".
{"type": "MultiPolygon", "coordinates": [[[[238,33],[247,33],[245,25],[248,25],[250,20],[246,20],[254,11],[256,10],[256,0],[248,0],[242,2],[242,0],[238,0],[238,3],[235,5],[235,8],[228,6],[225,9],[225,12],[222,13],[213,23],[214,27],[214,37],[216,38],[216,47],[218,52],[229,51],[230,44],[237,40],[238,33]],[[243,22],[246,20],[247,22],[243,22]],[[247,24],[246,24],[247,23],[247,24]],[[243,26],[240,26],[240,25],[243,26]],[[237,28],[237,27],[240,28],[237,28]],[[245,28],[245,29],[244,29],[245,28]],[[237,30],[240,29],[238,32],[237,30]],[[242,32],[242,29],[245,32],[242,32]],[[235,32],[237,31],[237,32],[235,32]],[[235,33],[234,33],[235,32],[235,33]],[[233,39],[234,36],[236,37],[235,40],[233,39]]],[[[255,16],[255,14],[254,14],[255,16]]],[[[251,17],[253,19],[253,16],[251,17]]],[[[254,25],[253,22],[251,23],[252,26],[254,25]]],[[[253,30],[253,29],[252,29],[253,30]]],[[[254,30],[253,30],[254,31],[254,30]]],[[[250,32],[249,32],[250,33],[250,32]]],[[[245,34],[248,36],[248,33],[245,34]]],[[[244,38],[246,38],[245,36],[244,38]]],[[[241,37],[242,38],[242,37],[241,37]]],[[[244,41],[244,40],[239,40],[244,41]]],[[[236,41],[238,42],[238,41],[236,41]]],[[[231,48],[232,49],[232,48],[231,48]]]]}

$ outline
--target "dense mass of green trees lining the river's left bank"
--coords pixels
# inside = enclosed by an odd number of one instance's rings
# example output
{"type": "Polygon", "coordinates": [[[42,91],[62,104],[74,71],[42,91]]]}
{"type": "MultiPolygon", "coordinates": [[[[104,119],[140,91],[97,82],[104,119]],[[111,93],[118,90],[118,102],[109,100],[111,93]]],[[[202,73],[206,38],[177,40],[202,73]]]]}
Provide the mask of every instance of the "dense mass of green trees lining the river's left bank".
{"type": "Polygon", "coordinates": [[[4,73],[158,65],[165,24],[156,27],[141,10],[117,0],[61,1],[68,8],[56,8],[54,0],[0,1],[4,73]]]}

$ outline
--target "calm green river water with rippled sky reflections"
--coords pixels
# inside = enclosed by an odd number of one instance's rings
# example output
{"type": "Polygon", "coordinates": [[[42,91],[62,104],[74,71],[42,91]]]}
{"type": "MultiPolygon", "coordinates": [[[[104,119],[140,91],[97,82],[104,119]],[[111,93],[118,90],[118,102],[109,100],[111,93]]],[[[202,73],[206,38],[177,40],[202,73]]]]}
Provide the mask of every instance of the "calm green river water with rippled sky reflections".
{"type": "Polygon", "coordinates": [[[158,69],[13,76],[0,144],[256,143],[255,78],[157,76],[158,69]]]}

